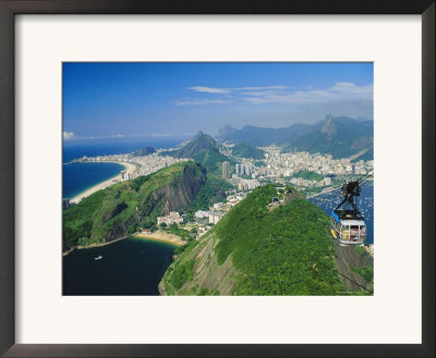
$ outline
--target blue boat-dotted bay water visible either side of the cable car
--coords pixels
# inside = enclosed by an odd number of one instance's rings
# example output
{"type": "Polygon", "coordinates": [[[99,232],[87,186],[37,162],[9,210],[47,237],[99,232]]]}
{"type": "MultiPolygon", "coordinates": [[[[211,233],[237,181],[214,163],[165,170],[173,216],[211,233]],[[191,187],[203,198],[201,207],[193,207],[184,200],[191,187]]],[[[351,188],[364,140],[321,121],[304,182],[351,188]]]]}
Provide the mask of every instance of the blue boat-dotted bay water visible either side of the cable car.
{"type": "MultiPolygon", "coordinates": [[[[330,215],[331,211],[342,200],[342,196],[339,193],[336,195],[326,194],[310,200],[330,215]]],[[[356,198],[355,202],[366,223],[365,244],[374,244],[374,186],[371,182],[362,186],[361,196],[356,198]]]]}

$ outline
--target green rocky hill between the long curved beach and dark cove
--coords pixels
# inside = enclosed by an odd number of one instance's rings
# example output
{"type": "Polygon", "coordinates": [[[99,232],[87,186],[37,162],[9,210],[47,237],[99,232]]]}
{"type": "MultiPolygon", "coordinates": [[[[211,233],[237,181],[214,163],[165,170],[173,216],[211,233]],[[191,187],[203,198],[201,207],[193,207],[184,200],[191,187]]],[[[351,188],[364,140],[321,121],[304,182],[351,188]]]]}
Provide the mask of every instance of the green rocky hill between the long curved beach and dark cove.
{"type": "MultiPolygon", "coordinates": [[[[187,211],[208,181],[206,169],[190,161],[99,190],[63,212],[63,251],[111,242],[141,226],[155,231],[156,218],[167,213],[164,208],[187,211]]],[[[214,177],[210,183],[218,185],[214,177]]],[[[203,190],[198,202],[223,197],[223,192],[203,190]]]]}

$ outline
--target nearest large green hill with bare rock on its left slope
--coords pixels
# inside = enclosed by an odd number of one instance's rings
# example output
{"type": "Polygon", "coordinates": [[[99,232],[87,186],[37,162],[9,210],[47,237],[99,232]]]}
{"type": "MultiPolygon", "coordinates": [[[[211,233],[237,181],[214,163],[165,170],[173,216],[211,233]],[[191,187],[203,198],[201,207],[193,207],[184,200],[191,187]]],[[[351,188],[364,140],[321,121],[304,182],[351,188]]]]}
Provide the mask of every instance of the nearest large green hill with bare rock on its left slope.
{"type": "Polygon", "coordinates": [[[328,217],[299,194],[274,210],[256,188],[167,271],[166,294],[339,295],[328,217]],[[183,269],[182,269],[183,268],[183,269]],[[173,274],[183,271],[183,280],[173,274]],[[172,283],[178,282],[175,287],[172,283]]]}

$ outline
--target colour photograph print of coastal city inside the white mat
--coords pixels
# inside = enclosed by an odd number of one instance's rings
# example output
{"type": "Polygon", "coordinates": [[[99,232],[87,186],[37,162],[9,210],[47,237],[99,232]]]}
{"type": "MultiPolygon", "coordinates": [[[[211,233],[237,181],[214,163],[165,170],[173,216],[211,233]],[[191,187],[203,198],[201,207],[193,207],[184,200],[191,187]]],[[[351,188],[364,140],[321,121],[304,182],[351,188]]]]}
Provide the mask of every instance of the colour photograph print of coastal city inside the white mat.
{"type": "Polygon", "coordinates": [[[374,295],[372,62],[64,62],[62,295],[374,295]]]}

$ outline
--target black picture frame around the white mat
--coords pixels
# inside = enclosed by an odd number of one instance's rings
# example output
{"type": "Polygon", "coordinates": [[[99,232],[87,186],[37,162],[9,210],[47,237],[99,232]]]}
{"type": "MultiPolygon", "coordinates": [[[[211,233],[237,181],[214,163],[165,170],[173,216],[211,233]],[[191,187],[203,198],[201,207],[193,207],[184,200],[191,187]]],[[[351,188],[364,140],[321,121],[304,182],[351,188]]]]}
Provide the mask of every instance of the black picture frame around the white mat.
{"type": "MultiPolygon", "coordinates": [[[[4,357],[434,357],[435,141],[435,0],[1,0],[0,354],[4,357]],[[14,203],[14,18],[17,14],[422,15],[422,344],[15,344],[14,211],[16,207],[14,203]]],[[[401,312],[399,312],[399,314],[401,314],[401,312]]]]}

